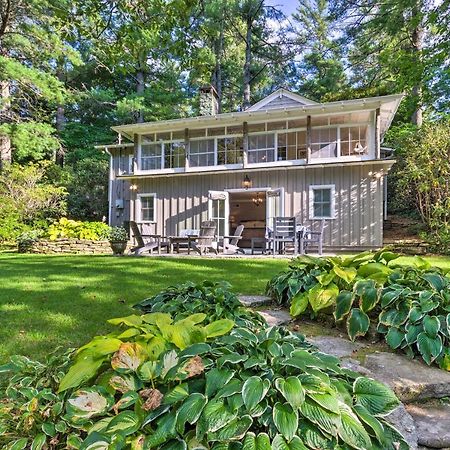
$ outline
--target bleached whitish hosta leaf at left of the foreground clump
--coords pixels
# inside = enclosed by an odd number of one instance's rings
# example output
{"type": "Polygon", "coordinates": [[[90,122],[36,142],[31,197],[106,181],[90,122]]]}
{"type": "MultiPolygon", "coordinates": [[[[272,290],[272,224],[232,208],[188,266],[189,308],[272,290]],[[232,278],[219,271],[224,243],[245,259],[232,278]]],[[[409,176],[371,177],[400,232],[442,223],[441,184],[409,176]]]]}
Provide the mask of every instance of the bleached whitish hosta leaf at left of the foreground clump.
{"type": "Polygon", "coordinates": [[[114,398],[102,387],[79,389],[67,400],[67,414],[75,421],[99,416],[114,404],[114,398]]]}

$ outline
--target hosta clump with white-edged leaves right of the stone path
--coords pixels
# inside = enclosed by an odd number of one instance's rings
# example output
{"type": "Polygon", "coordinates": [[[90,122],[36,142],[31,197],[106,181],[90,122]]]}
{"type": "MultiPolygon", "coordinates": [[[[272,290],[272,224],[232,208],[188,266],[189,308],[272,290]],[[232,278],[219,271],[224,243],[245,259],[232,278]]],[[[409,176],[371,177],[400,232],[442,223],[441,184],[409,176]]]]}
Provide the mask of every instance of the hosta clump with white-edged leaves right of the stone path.
{"type": "Polygon", "coordinates": [[[351,340],[375,322],[391,348],[450,370],[450,278],[418,257],[416,267],[395,265],[398,256],[301,256],[269,281],[267,292],[290,304],[293,317],[333,314],[336,323],[345,321],[351,340]]]}

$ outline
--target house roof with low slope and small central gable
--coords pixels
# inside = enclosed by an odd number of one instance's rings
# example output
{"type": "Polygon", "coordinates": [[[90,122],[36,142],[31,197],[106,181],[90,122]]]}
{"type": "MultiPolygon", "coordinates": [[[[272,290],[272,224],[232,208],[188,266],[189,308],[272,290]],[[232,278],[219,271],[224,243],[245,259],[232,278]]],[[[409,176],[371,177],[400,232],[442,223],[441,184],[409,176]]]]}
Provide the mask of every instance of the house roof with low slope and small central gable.
{"type": "Polygon", "coordinates": [[[112,129],[132,140],[133,134],[147,134],[162,131],[177,131],[184,128],[202,128],[225,125],[237,125],[246,121],[257,123],[266,120],[286,120],[290,118],[339,114],[354,111],[374,110],[380,108],[381,134],[389,128],[397,111],[403,94],[385,95],[353,100],[342,100],[328,103],[316,103],[300,95],[293,94],[285,89],[279,89],[265,99],[256,103],[245,111],[216,114],[212,116],[185,117],[180,119],[161,120],[155,122],[133,123],[129,125],[114,126],[112,129]],[[277,97],[285,96],[298,102],[298,105],[289,107],[269,108],[269,104],[277,97]],[[266,106],[266,108],[265,108],[266,106]]]}

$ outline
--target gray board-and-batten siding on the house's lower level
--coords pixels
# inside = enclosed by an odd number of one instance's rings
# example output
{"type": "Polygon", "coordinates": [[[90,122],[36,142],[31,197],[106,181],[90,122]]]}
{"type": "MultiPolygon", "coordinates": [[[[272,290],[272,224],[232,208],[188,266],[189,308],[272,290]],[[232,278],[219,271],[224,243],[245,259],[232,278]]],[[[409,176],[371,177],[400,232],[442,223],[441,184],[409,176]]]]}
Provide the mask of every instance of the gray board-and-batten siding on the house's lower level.
{"type": "MultiPolygon", "coordinates": [[[[156,194],[156,223],[154,231],[162,235],[177,235],[187,228],[200,228],[208,219],[208,191],[242,188],[247,174],[252,188],[284,188],[284,214],[296,216],[299,223],[313,229],[319,220],[309,219],[309,194],[311,185],[335,185],[335,218],[327,219],[324,245],[331,248],[380,247],[383,236],[383,182],[372,176],[380,166],[359,165],[302,167],[292,169],[248,170],[214,174],[171,175],[136,178],[137,191],[129,184],[116,180],[113,185],[112,204],[115,197],[124,195],[125,204],[131,204],[137,194],[156,194]]],[[[125,206],[128,211],[128,206],[125,206]]],[[[131,220],[134,208],[131,207],[131,220]]],[[[112,209],[112,223],[120,225],[112,209]]],[[[129,220],[125,217],[125,220],[129,220]]]]}

